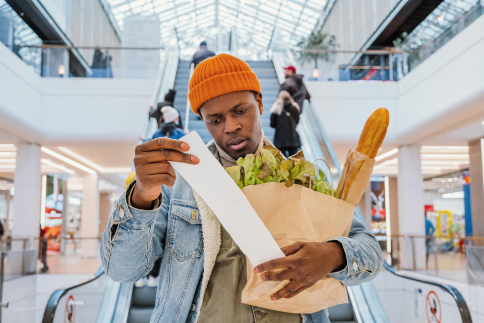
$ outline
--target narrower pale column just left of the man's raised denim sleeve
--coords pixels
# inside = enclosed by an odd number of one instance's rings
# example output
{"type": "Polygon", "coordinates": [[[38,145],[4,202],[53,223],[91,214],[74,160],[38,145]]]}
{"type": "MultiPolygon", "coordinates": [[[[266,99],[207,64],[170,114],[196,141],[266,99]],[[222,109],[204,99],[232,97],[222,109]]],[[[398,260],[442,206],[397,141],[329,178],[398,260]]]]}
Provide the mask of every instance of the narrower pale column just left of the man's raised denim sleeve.
{"type": "MultiPolygon", "coordinates": [[[[99,189],[97,174],[84,176],[84,191],[81,207],[81,237],[99,236],[99,189]]],[[[82,240],[83,257],[96,257],[99,254],[96,239],[82,240]]]]}

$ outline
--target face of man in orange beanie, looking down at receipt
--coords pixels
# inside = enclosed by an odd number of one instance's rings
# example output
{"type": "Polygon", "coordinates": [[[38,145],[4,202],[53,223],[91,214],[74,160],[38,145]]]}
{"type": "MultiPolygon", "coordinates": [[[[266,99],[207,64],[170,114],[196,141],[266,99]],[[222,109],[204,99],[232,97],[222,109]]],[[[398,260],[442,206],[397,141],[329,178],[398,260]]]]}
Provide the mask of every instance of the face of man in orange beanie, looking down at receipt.
{"type": "Polygon", "coordinates": [[[231,92],[200,107],[205,126],[213,139],[233,158],[255,153],[261,141],[262,94],[231,92]]]}

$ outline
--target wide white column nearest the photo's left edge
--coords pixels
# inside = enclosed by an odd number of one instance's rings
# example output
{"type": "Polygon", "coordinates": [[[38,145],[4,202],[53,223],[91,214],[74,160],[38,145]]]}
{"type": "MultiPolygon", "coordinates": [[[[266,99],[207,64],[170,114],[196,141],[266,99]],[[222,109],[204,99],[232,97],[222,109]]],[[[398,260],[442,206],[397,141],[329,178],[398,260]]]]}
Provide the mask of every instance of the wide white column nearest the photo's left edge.
{"type": "Polygon", "coordinates": [[[29,238],[28,248],[37,248],[33,238],[39,236],[40,226],[40,146],[32,143],[17,145],[14,175],[14,219],[12,238],[29,238]]]}

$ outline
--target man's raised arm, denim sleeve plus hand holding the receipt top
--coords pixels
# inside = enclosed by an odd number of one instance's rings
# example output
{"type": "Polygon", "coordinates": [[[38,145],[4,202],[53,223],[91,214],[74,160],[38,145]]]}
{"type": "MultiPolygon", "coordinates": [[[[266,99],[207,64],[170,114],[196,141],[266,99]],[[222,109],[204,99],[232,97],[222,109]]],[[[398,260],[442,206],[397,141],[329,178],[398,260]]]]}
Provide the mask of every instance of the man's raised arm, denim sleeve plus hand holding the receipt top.
{"type": "Polygon", "coordinates": [[[156,138],[138,145],[134,165],[136,181],[120,197],[101,237],[101,258],[114,281],[135,282],[148,274],[164,250],[168,187],[176,176],[170,161],[198,164],[185,153],[190,146],[180,140],[156,138]]]}

